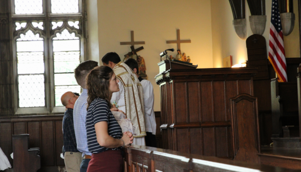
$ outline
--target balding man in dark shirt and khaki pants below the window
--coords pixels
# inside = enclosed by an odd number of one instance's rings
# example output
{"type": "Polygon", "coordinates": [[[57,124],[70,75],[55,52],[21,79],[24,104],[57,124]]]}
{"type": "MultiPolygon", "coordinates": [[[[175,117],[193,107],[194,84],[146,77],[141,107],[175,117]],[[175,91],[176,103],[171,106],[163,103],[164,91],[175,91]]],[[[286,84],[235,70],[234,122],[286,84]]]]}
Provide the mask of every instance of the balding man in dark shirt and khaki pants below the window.
{"type": "Polygon", "coordinates": [[[73,107],[78,96],[72,92],[66,92],[61,96],[61,103],[67,111],[63,117],[63,145],[65,149],[65,165],[68,172],[80,171],[81,153],[76,148],[76,139],[73,123],[73,107]]]}

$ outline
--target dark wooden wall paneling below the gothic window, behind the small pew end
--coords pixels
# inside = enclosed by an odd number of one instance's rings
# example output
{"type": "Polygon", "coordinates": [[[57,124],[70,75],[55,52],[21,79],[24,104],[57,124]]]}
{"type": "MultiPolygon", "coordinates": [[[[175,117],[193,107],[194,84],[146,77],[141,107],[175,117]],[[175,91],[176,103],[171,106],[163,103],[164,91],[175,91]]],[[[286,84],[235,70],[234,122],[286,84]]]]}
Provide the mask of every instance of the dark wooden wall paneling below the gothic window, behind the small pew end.
{"type": "MultiPolygon", "coordinates": [[[[29,147],[40,148],[40,164],[65,165],[60,153],[63,145],[63,115],[0,117],[0,147],[7,157],[13,152],[12,135],[29,134],[29,147]]],[[[11,158],[8,158],[13,164],[11,158]]]]}

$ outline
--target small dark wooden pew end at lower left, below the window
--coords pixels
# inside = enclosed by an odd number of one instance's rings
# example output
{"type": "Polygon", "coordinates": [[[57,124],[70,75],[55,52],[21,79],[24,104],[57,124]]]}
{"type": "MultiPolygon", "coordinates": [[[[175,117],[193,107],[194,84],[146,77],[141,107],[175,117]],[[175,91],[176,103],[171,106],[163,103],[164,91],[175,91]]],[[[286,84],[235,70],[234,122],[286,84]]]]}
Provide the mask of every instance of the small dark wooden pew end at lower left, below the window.
{"type": "Polygon", "coordinates": [[[29,135],[12,135],[14,172],[35,172],[41,167],[39,148],[29,148],[29,135]]]}

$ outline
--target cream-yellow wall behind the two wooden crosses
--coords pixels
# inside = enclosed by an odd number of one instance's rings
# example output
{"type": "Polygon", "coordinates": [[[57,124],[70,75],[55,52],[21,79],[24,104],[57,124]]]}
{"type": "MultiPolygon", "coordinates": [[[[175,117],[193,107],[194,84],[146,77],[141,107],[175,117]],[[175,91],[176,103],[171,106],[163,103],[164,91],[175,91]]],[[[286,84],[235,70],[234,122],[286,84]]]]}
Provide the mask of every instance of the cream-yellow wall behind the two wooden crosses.
{"type": "Polygon", "coordinates": [[[192,63],[199,68],[213,67],[210,0],[99,0],[97,7],[99,61],[112,51],[123,58],[131,49],[120,42],[131,40],[131,30],[135,41],[145,41],[135,48],[144,47],[138,55],[144,57],[146,74],[154,87],[155,111],[161,111],[159,86],[154,79],[159,73],[159,54],[177,49],[176,44],[166,44],[166,40],[177,39],[177,29],[181,39],[191,39],[191,44],[181,44],[181,50],[192,63]]]}

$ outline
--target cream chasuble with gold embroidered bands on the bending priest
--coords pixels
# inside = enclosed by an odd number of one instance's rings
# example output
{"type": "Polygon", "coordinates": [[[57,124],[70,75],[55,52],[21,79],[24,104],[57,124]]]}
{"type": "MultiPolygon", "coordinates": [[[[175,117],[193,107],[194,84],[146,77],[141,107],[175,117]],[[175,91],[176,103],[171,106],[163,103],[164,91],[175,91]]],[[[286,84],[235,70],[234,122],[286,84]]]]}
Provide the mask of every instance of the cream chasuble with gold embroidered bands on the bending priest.
{"type": "Polygon", "coordinates": [[[137,135],[134,137],[144,137],[146,132],[142,85],[131,68],[121,61],[114,67],[113,71],[124,88],[125,113],[135,126],[137,135]]]}

